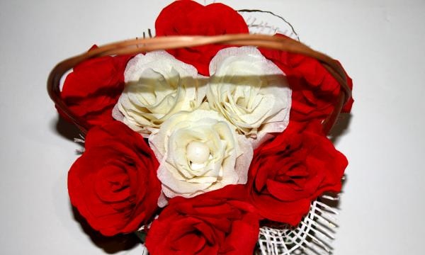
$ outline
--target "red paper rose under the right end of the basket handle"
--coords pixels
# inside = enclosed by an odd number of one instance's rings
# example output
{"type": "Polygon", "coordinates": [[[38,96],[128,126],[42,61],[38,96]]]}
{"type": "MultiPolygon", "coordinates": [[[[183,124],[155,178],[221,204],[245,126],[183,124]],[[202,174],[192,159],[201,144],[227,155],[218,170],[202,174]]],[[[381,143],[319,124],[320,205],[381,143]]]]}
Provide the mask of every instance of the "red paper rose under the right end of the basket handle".
{"type": "MultiPolygon", "coordinates": [[[[315,118],[320,120],[327,118],[334,110],[334,103],[341,90],[338,81],[327,72],[327,69],[312,57],[264,48],[260,51],[285,72],[288,78],[290,89],[293,91],[290,119],[309,121],[315,118]]],[[[348,76],[347,82],[352,88],[353,83],[348,76]]],[[[343,112],[350,112],[352,104],[353,98],[350,98],[343,112]]]]}

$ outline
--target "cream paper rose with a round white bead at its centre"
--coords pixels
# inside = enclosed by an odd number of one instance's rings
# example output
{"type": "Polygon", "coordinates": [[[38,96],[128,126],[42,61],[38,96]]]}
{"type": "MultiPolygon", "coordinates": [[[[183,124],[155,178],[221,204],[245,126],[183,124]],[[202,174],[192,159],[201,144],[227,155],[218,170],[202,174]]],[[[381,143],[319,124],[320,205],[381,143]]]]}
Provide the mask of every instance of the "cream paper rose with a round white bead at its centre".
{"type": "MultiPolygon", "coordinates": [[[[216,111],[181,112],[149,137],[168,198],[191,198],[228,184],[247,181],[252,147],[236,127],[216,111]]],[[[164,197],[159,206],[166,205],[164,197]]]]}

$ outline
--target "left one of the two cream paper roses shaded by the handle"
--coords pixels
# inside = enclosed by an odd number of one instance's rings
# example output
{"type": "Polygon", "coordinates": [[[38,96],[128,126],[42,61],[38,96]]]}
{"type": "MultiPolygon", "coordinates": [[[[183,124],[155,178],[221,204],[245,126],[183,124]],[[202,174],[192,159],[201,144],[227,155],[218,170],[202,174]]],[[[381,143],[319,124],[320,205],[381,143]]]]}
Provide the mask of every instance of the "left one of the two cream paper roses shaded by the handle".
{"type": "Polygon", "coordinates": [[[178,111],[191,111],[205,98],[202,77],[165,51],[136,55],[125,68],[125,89],[113,117],[148,137],[178,111]]]}

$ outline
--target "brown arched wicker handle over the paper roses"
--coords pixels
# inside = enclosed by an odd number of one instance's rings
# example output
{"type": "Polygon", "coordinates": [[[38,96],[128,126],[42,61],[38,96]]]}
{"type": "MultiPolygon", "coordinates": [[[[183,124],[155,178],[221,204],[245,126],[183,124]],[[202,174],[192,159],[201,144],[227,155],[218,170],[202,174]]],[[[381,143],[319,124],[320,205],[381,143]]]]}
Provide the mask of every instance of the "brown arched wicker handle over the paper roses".
{"type": "Polygon", "coordinates": [[[334,111],[324,120],[322,128],[325,134],[328,134],[335,125],[336,120],[341,113],[341,109],[349,98],[351,98],[351,89],[347,84],[347,77],[344,69],[336,60],[324,55],[321,52],[312,50],[307,45],[287,37],[278,37],[271,35],[215,35],[215,36],[166,36],[157,38],[144,38],[113,42],[103,45],[84,54],[63,60],[56,65],[50,72],[47,79],[47,92],[56,106],[77,125],[79,130],[86,134],[90,125],[79,116],[72,113],[69,107],[64,103],[60,96],[60,79],[69,70],[77,64],[94,57],[102,57],[106,55],[135,55],[141,52],[150,52],[153,50],[170,50],[181,47],[195,47],[208,44],[224,44],[237,46],[257,46],[266,47],[273,50],[282,50],[286,52],[299,53],[307,57],[313,57],[318,60],[325,69],[331,74],[341,86],[338,100],[335,102],[334,111]]]}

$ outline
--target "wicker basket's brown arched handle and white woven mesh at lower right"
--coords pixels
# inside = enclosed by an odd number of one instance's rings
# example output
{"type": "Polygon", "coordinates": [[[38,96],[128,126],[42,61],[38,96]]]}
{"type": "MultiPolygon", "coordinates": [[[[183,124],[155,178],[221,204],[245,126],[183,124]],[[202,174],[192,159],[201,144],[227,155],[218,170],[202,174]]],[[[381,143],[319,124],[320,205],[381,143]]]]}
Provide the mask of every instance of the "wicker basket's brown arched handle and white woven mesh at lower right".
{"type": "MultiPolygon", "coordinates": [[[[64,103],[60,96],[60,81],[62,76],[77,64],[95,57],[107,55],[135,55],[141,52],[150,52],[154,50],[169,50],[181,47],[195,47],[208,44],[236,45],[257,47],[266,47],[273,50],[281,50],[285,52],[299,53],[308,57],[313,57],[327,69],[336,81],[339,82],[341,90],[338,99],[335,101],[334,111],[322,123],[324,133],[329,131],[336,123],[339,113],[344,104],[351,98],[351,89],[347,84],[347,77],[344,69],[339,62],[331,59],[327,55],[312,50],[310,47],[288,37],[276,37],[271,35],[254,35],[254,34],[238,34],[238,35],[216,35],[216,36],[169,36],[157,38],[144,38],[135,40],[125,40],[103,45],[84,54],[71,57],[57,64],[52,70],[47,81],[47,91],[50,98],[55,102],[56,106],[64,115],[77,125],[83,134],[86,134],[90,125],[86,121],[72,113],[69,107],[64,103]]],[[[324,199],[333,199],[324,196],[324,199]]],[[[322,198],[322,199],[323,199],[322,198]]],[[[329,254],[326,242],[322,242],[322,237],[315,235],[330,237],[331,233],[321,225],[334,225],[334,220],[329,219],[336,212],[325,203],[315,200],[312,202],[310,213],[304,217],[300,225],[296,228],[289,226],[280,226],[276,228],[263,226],[260,229],[260,237],[257,245],[256,254],[310,254],[305,253],[305,248],[310,248],[317,254],[317,248],[324,254],[329,254]],[[324,216],[327,215],[328,217],[324,216]]],[[[329,239],[329,238],[328,238],[329,239]]]]}

